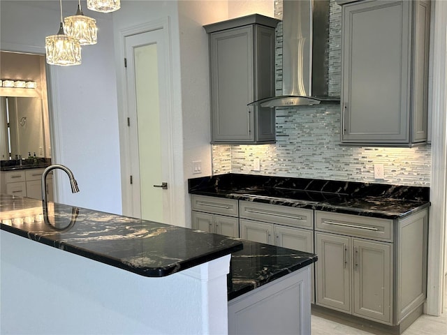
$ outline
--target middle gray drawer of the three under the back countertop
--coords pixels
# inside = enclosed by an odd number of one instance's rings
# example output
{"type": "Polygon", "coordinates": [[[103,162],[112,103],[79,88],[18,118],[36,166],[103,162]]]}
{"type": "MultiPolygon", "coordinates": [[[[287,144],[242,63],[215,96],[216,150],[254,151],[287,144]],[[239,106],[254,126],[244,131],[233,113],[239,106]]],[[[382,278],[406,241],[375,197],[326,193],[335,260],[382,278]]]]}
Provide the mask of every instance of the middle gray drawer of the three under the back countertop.
{"type": "Polygon", "coordinates": [[[241,200],[240,217],[258,221],[291,225],[293,227],[314,228],[314,211],[279,204],[263,204],[241,200]]]}

